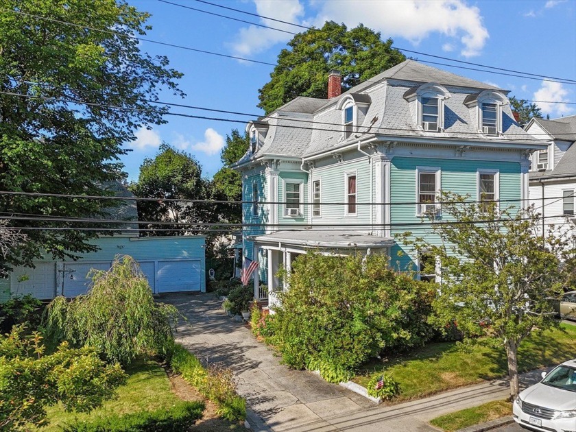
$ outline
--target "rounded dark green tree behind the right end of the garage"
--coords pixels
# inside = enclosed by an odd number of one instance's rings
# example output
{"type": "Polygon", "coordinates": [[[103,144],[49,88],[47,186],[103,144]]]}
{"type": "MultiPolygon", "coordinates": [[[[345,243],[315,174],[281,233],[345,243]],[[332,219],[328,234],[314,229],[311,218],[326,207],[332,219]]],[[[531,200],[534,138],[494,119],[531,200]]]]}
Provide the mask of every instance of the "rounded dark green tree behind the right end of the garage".
{"type": "Polygon", "coordinates": [[[160,146],[154,158],[146,158],[140,167],[138,182],[130,185],[137,197],[156,198],[157,201],[139,201],[138,216],[146,221],[142,228],[177,228],[175,231],[148,232],[148,235],[183,235],[192,226],[182,222],[201,224],[215,219],[215,208],[206,202],[211,198],[211,183],[202,178],[202,167],[193,156],[180,152],[166,143],[160,146]],[[182,201],[167,201],[182,200],[182,201]],[[154,224],[169,221],[173,225],[154,224]]]}

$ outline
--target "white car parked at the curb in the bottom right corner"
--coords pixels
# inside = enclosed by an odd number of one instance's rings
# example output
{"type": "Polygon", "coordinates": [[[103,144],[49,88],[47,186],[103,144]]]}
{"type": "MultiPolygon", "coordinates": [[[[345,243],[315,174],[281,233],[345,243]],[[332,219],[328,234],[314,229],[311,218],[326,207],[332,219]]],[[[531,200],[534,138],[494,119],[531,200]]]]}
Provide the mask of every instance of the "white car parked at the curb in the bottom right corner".
{"type": "Polygon", "coordinates": [[[557,366],[514,400],[514,421],[524,429],[576,432],[576,359],[557,366]]]}

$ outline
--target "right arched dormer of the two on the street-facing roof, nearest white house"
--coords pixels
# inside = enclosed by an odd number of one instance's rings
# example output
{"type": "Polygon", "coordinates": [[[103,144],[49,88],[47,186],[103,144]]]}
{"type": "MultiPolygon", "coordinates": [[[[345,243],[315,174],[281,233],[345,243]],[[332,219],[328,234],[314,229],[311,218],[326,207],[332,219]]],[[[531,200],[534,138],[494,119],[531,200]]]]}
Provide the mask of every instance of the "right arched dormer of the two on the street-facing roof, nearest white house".
{"type": "Polygon", "coordinates": [[[505,95],[499,91],[485,90],[468,95],[464,104],[475,110],[478,132],[488,136],[502,133],[502,107],[509,104],[505,95]]]}

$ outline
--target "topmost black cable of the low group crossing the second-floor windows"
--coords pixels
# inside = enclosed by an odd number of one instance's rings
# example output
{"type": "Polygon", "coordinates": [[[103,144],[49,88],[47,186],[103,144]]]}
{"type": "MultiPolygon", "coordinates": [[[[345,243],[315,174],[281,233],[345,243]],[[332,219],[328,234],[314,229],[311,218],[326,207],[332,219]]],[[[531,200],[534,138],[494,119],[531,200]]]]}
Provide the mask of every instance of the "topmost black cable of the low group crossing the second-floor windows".
{"type": "MultiPolygon", "coordinates": [[[[82,199],[82,200],[118,200],[118,201],[152,201],[152,202],[190,202],[190,203],[202,203],[202,204],[243,204],[243,205],[268,205],[268,204],[296,204],[293,202],[286,202],[286,201],[273,201],[273,202],[262,202],[262,201],[250,201],[250,200],[241,200],[241,201],[228,201],[228,200],[187,200],[187,199],[179,199],[179,198],[150,198],[150,197],[119,197],[119,196],[104,196],[104,195],[75,195],[75,194],[67,194],[67,193],[44,193],[44,192],[23,192],[23,191],[0,191],[0,195],[22,195],[27,197],[56,197],[56,198],[73,198],[73,199],[82,199]]],[[[564,196],[560,197],[544,197],[544,200],[561,200],[564,196]]],[[[507,200],[490,200],[490,201],[464,201],[462,204],[481,204],[485,202],[496,202],[496,203],[503,203],[503,202],[525,202],[525,201],[535,201],[541,200],[541,198],[511,198],[507,200]]],[[[354,203],[357,206],[394,206],[394,205],[416,205],[416,204],[446,204],[447,202],[436,201],[434,203],[429,202],[356,202],[354,203]]],[[[310,206],[313,204],[319,204],[321,206],[348,206],[350,205],[349,202],[298,202],[298,205],[310,206]]],[[[4,212],[5,213],[5,212],[4,212]]]]}

